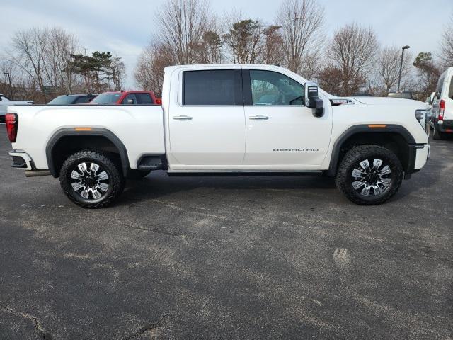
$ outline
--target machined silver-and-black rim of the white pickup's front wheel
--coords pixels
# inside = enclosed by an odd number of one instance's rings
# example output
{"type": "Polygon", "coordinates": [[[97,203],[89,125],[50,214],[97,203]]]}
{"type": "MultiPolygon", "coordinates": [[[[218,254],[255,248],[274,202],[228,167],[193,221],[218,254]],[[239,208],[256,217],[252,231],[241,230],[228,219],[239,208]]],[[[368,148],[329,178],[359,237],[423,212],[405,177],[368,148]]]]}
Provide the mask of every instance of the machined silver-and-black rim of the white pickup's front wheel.
{"type": "Polygon", "coordinates": [[[352,188],[362,196],[377,196],[391,183],[390,166],[382,159],[365,159],[352,170],[352,188]],[[372,160],[372,165],[369,161],[372,160]]]}

